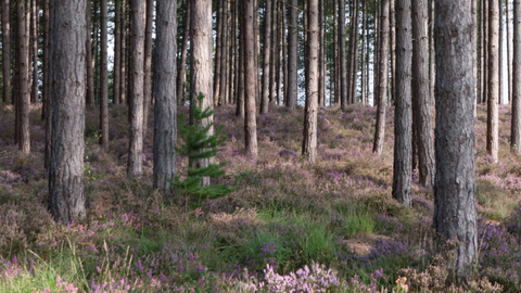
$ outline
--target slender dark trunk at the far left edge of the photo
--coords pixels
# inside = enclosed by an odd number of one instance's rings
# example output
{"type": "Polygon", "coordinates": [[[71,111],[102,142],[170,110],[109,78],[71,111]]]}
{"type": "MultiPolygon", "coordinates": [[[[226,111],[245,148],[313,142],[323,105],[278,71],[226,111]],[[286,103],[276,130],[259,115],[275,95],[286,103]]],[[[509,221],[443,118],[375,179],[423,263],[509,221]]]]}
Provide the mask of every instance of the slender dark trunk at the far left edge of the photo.
{"type": "Polygon", "coordinates": [[[11,22],[10,0],[2,0],[2,73],[3,73],[3,104],[11,103],[11,22]]]}

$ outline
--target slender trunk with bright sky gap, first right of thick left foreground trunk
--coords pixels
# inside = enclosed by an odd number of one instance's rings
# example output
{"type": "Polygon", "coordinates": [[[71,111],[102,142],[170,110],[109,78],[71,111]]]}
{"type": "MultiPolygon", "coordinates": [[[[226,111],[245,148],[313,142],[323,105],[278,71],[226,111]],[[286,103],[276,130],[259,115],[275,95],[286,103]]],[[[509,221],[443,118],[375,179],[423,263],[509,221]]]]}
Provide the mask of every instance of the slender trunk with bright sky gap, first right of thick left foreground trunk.
{"type": "Polygon", "coordinates": [[[107,68],[107,5],[106,0],[101,0],[101,76],[100,76],[100,144],[109,151],[109,68],[107,68]]]}

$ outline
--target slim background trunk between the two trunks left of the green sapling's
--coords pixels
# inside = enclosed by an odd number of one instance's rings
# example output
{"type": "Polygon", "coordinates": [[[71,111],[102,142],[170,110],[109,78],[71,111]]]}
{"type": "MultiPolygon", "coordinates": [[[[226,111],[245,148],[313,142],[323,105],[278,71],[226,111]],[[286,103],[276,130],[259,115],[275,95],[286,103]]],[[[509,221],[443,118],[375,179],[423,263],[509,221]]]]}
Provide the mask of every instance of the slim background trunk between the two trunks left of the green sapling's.
{"type": "MultiPolygon", "coordinates": [[[[154,21],[154,0],[147,0],[147,20],[144,28],[144,76],[143,76],[143,137],[149,127],[149,106],[152,101],[152,23],[154,21]]],[[[176,22],[177,24],[177,22],[176,22]]]]}

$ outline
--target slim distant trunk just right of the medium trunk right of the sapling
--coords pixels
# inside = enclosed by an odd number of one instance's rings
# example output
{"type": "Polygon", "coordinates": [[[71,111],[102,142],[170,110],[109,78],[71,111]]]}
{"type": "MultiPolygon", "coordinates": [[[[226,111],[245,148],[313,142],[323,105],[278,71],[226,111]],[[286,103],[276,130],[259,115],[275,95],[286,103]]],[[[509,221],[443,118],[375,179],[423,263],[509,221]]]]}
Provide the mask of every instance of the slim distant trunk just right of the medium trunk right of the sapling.
{"type": "Polygon", "coordinates": [[[269,62],[271,53],[271,2],[266,0],[264,16],[264,55],[263,55],[263,97],[260,99],[260,114],[268,113],[269,99],[269,62]]]}

